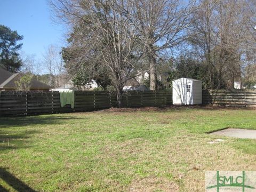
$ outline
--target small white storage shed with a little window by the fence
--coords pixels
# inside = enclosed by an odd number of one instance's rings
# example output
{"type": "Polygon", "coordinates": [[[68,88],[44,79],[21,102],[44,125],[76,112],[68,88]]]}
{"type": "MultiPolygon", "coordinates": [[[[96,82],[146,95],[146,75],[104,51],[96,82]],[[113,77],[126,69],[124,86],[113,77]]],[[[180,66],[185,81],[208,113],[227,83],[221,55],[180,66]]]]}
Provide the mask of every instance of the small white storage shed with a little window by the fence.
{"type": "Polygon", "coordinates": [[[172,82],[173,105],[202,104],[202,81],[179,78],[172,82]]]}

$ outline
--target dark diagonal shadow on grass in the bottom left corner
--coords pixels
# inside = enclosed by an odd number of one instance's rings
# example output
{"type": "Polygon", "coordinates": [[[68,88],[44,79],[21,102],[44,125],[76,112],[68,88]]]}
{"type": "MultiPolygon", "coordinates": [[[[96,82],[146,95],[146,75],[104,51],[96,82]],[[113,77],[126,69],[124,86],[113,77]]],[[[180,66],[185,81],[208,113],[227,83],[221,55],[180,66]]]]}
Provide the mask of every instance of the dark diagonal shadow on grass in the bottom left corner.
{"type": "MultiPolygon", "coordinates": [[[[28,191],[35,192],[36,190],[30,188],[26,183],[16,178],[13,174],[6,171],[3,167],[0,167],[0,178],[8,183],[9,186],[17,191],[28,191]]],[[[0,191],[7,191],[4,187],[0,185],[0,191]]]]}

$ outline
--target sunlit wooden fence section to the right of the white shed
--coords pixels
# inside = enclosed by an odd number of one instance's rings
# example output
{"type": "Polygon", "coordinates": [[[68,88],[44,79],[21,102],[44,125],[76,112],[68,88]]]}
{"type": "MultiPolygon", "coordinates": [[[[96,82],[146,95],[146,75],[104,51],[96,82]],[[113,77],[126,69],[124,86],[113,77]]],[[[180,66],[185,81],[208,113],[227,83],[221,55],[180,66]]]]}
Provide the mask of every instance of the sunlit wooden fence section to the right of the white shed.
{"type": "Polygon", "coordinates": [[[203,90],[203,104],[256,107],[256,90],[203,90]]]}

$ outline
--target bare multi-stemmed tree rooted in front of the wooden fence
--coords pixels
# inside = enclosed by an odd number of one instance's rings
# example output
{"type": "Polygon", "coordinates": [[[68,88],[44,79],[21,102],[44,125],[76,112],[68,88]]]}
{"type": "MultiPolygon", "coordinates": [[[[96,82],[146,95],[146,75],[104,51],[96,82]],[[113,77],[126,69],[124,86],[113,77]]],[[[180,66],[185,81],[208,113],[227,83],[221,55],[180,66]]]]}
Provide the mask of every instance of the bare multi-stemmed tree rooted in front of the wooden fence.
{"type": "Polygon", "coordinates": [[[91,61],[99,60],[109,73],[121,106],[123,86],[134,70],[137,46],[137,26],[131,19],[135,11],[132,2],[52,0],[50,3],[62,21],[76,31],[72,34],[76,38],[70,42],[76,50],[76,67],[86,70],[95,64],[91,61]]]}

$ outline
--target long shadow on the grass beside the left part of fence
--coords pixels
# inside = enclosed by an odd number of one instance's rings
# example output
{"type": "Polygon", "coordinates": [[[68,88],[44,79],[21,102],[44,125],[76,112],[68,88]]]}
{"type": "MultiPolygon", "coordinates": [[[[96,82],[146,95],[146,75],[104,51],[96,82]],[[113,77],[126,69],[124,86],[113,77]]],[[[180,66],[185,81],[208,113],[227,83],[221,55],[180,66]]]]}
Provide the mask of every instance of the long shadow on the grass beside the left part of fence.
{"type": "Polygon", "coordinates": [[[65,124],[72,119],[85,119],[77,117],[65,116],[20,116],[20,117],[1,117],[0,129],[9,128],[9,126],[28,126],[28,125],[49,125],[49,124],[65,124]]]}

